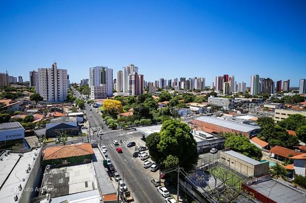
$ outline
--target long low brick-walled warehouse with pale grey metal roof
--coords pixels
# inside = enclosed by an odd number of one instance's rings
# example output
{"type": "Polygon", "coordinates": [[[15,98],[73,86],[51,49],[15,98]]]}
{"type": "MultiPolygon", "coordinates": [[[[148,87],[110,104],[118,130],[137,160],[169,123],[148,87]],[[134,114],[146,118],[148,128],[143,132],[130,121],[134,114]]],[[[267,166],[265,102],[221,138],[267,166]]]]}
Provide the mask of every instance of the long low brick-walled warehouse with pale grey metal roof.
{"type": "Polygon", "coordinates": [[[198,117],[193,119],[190,125],[194,128],[199,127],[203,131],[210,132],[232,132],[234,134],[243,134],[246,137],[252,137],[260,133],[259,126],[237,123],[214,117],[198,117]]]}

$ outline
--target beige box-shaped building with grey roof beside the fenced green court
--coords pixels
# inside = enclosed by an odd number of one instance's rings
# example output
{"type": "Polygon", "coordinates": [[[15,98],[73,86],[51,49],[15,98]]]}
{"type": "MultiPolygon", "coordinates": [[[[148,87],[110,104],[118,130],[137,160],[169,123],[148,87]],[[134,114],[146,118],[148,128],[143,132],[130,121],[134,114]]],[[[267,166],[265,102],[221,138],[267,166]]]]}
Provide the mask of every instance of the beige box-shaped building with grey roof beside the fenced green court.
{"type": "Polygon", "coordinates": [[[259,162],[229,148],[220,152],[219,161],[247,177],[262,177],[269,174],[269,162],[259,162]]]}

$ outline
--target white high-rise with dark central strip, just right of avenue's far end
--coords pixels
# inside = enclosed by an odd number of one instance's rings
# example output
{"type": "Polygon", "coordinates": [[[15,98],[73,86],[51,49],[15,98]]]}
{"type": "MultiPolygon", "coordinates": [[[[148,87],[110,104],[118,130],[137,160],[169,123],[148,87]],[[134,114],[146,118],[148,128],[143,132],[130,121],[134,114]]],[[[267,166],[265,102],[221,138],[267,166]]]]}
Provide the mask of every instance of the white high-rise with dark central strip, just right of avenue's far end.
{"type": "Polygon", "coordinates": [[[113,69],[96,66],[89,69],[90,97],[94,99],[105,99],[113,95],[113,69]],[[101,85],[103,84],[103,85],[101,85]],[[99,88],[92,88],[100,86],[99,88]],[[102,87],[103,86],[103,87],[102,87]],[[105,93],[106,89],[106,93],[105,93]]]}

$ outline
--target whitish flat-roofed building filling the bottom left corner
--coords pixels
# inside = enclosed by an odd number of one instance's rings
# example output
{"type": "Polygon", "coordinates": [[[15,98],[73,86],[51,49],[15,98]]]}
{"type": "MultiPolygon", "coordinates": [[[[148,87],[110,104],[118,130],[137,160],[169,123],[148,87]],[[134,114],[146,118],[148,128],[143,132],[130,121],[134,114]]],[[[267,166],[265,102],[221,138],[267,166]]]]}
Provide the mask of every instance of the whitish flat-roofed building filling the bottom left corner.
{"type": "Polygon", "coordinates": [[[32,197],[38,191],[41,148],[23,154],[4,151],[0,154],[0,159],[0,201],[5,203],[31,202],[32,197]]]}

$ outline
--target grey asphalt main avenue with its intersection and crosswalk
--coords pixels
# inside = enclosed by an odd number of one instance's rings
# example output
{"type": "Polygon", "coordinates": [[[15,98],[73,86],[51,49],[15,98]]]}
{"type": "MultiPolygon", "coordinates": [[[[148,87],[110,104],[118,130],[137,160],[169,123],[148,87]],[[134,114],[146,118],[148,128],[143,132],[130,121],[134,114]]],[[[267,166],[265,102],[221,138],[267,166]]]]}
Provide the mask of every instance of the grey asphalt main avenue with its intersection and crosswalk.
{"type": "MultiPolygon", "coordinates": [[[[85,112],[88,115],[90,121],[90,127],[96,127],[97,131],[99,128],[102,131],[110,131],[107,128],[100,114],[96,112],[97,109],[91,107],[85,103],[85,112]],[[90,111],[91,109],[91,111],[90,111]],[[89,117],[89,114],[92,117],[89,117]],[[103,127],[103,129],[102,129],[103,127]]],[[[91,141],[100,142],[101,145],[107,146],[108,158],[113,162],[117,172],[120,174],[121,178],[124,180],[127,189],[132,192],[135,202],[142,203],[157,203],[164,202],[165,198],[157,191],[156,187],[150,182],[149,169],[145,169],[142,166],[143,161],[136,160],[132,156],[133,149],[127,149],[126,143],[129,142],[131,138],[141,138],[141,133],[134,131],[133,129],[121,134],[119,130],[111,131],[110,133],[104,133],[104,135],[92,135],[91,131],[91,141]],[[119,146],[114,146],[113,140],[122,140],[119,146]],[[122,154],[116,152],[116,148],[120,147],[123,151],[122,154]]],[[[137,158],[139,159],[139,158],[137,158]]]]}

